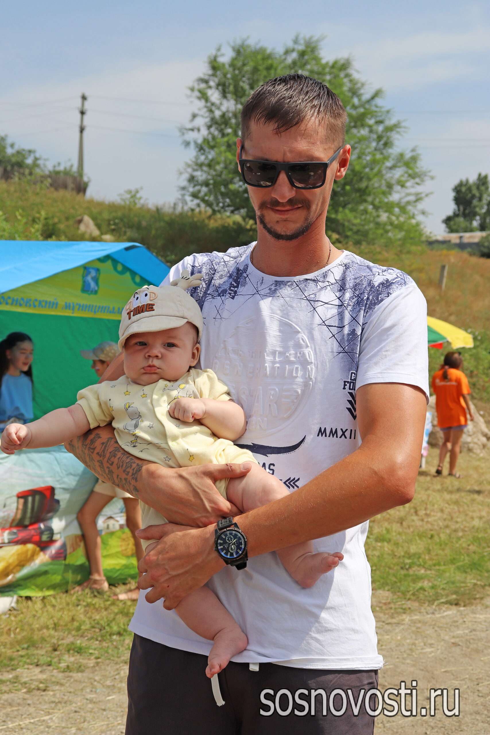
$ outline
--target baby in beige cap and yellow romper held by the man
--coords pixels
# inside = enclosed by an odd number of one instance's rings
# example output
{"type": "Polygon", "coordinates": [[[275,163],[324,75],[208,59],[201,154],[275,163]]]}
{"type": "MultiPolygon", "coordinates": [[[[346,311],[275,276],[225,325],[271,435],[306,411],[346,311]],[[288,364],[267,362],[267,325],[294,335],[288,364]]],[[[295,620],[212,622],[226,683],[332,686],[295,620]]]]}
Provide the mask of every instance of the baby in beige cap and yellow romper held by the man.
{"type": "MultiPolygon", "coordinates": [[[[247,475],[217,481],[217,490],[243,512],[287,495],[281,481],[263,470],[251,452],[232,443],[244,433],[246,420],[226,385],[212,370],[194,367],[201,351],[203,318],[185,289],[199,284],[200,278],[190,279],[184,271],[170,286],[145,286],[134,293],[119,329],[125,375],[81,390],[77,403],[68,409],[7,426],[1,435],[2,451],[13,454],[27,447],[58,445],[112,423],[121,447],[164,467],[250,462],[247,475]]],[[[143,527],[166,523],[154,509],[144,503],[141,508],[143,527]]],[[[143,542],[145,551],[155,543],[143,542]]],[[[311,587],[336,566],[336,559],[343,558],[341,553],[313,553],[312,542],[277,553],[302,587],[311,587]]],[[[208,587],[187,595],[176,612],[192,631],[213,642],[206,668],[209,677],[247,647],[247,637],[208,587]]]]}

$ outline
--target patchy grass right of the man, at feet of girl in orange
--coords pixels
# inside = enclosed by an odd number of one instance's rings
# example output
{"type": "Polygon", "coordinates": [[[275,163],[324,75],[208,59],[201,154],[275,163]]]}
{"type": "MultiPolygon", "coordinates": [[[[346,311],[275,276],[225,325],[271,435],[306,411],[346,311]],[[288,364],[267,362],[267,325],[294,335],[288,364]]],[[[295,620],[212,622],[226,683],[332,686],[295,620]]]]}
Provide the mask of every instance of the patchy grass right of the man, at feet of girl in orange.
{"type": "Polygon", "coordinates": [[[458,480],[433,476],[438,456],[431,448],[408,506],[370,523],[372,587],[394,603],[467,605],[489,595],[490,457],[461,454],[458,480]]]}

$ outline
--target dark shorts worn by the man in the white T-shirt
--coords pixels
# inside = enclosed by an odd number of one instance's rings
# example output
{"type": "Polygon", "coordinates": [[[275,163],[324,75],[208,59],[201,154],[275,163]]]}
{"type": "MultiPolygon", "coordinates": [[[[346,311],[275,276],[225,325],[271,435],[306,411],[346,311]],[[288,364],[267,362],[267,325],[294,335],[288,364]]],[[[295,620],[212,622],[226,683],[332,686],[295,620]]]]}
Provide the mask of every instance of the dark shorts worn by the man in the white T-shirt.
{"type": "MultiPolygon", "coordinates": [[[[361,706],[354,715],[350,706],[340,717],[328,709],[334,689],[352,691],[354,702],[361,689],[378,686],[377,671],[332,671],[293,669],[277,664],[248,664],[231,661],[218,677],[224,706],[218,707],[206,677],[206,656],[168,648],[134,635],[129,659],[128,719],[126,735],[372,735],[375,718],[361,706]],[[273,694],[264,689],[273,690],[273,694]],[[282,692],[278,695],[281,689],[282,692]],[[298,692],[306,689],[306,692],[298,692]],[[311,705],[311,689],[323,690],[311,705]],[[290,694],[288,693],[290,692],[290,694]],[[278,707],[275,709],[277,698],[278,707]],[[324,714],[324,701],[327,711],[324,714]],[[293,703],[292,711],[287,712],[293,703]],[[300,704],[300,702],[303,702],[300,704]],[[260,710],[273,714],[266,716],[260,710]],[[294,714],[294,710],[307,714],[294,714]]],[[[342,710],[342,695],[334,698],[334,709],[342,710]]],[[[347,699],[347,701],[349,701],[347,699]]],[[[364,701],[364,700],[363,700],[364,701]]],[[[375,697],[370,700],[376,709],[375,697]]]]}

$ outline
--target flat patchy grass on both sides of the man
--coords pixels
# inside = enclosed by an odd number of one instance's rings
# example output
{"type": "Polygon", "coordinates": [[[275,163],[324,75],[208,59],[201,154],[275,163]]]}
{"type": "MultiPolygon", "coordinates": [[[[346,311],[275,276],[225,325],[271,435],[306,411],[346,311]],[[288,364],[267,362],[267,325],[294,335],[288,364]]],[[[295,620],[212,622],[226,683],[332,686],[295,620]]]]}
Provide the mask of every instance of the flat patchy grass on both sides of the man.
{"type": "MultiPolygon", "coordinates": [[[[431,449],[414,501],[371,521],[372,587],[393,608],[468,606],[490,592],[489,458],[463,453],[461,480],[433,477],[436,463],[431,449]]],[[[0,617],[0,671],[29,665],[76,671],[87,658],[121,660],[129,653],[133,609],[134,603],[94,593],[20,598],[17,611],[0,617]]]]}

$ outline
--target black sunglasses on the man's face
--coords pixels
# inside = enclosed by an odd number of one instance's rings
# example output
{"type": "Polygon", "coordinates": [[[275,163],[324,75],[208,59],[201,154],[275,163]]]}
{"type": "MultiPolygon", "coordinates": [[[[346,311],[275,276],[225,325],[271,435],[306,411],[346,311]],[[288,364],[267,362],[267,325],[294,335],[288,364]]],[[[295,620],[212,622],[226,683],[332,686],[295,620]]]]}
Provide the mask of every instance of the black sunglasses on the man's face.
{"type": "Polygon", "coordinates": [[[340,146],[328,161],[298,161],[279,163],[277,161],[254,161],[242,158],[243,144],[240,147],[238,162],[242,179],[248,186],[270,187],[278,180],[279,173],[285,171],[289,184],[295,189],[320,189],[325,184],[328,166],[334,162],[344,146],[340,146]]]}

